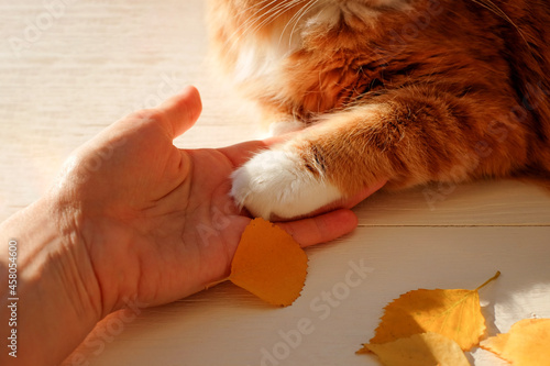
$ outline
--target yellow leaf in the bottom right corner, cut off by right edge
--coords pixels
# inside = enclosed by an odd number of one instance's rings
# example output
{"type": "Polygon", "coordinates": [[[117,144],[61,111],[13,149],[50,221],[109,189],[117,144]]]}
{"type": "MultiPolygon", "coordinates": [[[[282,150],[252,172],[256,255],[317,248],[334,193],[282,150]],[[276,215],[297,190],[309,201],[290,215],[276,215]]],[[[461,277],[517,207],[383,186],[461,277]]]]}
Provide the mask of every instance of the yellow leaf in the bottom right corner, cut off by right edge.
{"type": "Polygon", "coordinates": [[[481,347],[513,365],[542,366],[550,361],[550,319],[525,319],[508,333],[492,336],[481,347]]]}

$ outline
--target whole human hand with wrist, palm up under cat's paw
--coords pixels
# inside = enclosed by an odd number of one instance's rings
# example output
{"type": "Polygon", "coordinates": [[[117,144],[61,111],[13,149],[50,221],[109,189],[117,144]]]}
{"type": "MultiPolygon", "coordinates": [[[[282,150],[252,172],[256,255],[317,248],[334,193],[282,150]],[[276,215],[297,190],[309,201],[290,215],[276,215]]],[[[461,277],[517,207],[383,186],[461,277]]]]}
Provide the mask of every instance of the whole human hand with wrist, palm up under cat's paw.
{"type": "MultiPolygon", "coordinates": [[[[277,140],[175,147],[173,140],[200,111],[198,91],[187,88],[113,123],[73,154],[47,195],[0,225],[3,242],[21,243],[20,311],[26,315],[19,342],[36,350],[18,357],[22,364],[57,364],[128,301],[166,303],[229,275],[251,221],[229,196],[230,175],[277,140]]],[[[377,188],[337,206],[352,207],[377,188]]],[[[315,214],[279,225],[308,246],[358,223],[349,209],[315,214]]],[[[0,255],[0,269],[7,268],[0,255]]]]}

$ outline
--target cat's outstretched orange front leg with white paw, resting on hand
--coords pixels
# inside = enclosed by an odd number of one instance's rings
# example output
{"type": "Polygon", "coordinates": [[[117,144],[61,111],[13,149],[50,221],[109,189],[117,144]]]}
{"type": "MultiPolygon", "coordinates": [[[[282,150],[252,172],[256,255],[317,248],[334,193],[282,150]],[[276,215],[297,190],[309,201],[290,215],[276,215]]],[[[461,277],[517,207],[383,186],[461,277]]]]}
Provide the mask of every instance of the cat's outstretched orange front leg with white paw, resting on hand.
{"type": "Polygon", "coordinates": [[[525,164],[518,122],[503,120],[506,108],[481,108],[480,96],[472,98],[476,100],[431,89],[402,89],[380,101],[327,114],[294,140],[239,168],[232,196],[253,215],[288,219],[384,180],[393,187],[455,182],[503,176],[525,164]],[[492,121],[515,133],[503,143],[492,133],[492,121]]]}

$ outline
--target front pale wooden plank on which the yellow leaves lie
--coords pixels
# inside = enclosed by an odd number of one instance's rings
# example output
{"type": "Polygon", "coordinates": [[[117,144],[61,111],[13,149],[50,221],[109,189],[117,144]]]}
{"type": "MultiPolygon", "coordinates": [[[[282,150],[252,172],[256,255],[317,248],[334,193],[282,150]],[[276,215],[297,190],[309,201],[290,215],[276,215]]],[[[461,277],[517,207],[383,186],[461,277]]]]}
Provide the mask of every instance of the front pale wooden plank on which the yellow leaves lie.
{"type": "MultiPolygon", "coordinates": [[[[550,317],[549,237],[550,228],[360,228],[308,251],[306,287],[289,308],[222,284],[142,310],[120,334],[107,319],[77,353],[91,354],[87,361],[98,366],[374,366],[374,358],[354,352],[373,336],[383,307],[417,288],[473,289],[501,270],[481,291],[490,334],[534,314],[550,317]],[[356,267],[366,269],[358,274],[356,267]]],[[[498,365],[483,351],[474,359],[498,365]]]]}

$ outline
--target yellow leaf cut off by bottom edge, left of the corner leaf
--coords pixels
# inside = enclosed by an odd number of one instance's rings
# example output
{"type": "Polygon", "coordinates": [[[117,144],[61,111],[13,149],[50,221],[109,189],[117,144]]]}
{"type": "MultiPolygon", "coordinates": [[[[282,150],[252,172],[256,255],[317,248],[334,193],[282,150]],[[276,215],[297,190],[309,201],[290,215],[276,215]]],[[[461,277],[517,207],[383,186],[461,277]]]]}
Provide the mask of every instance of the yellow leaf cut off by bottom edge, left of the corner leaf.
{"type": "Polygon", "coordinates": [[[414,334],[384,344],[365,344],[385,366],[471,366],[457,342],[439,333],[414,334]]]}

